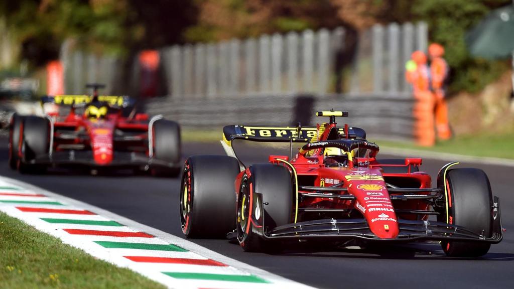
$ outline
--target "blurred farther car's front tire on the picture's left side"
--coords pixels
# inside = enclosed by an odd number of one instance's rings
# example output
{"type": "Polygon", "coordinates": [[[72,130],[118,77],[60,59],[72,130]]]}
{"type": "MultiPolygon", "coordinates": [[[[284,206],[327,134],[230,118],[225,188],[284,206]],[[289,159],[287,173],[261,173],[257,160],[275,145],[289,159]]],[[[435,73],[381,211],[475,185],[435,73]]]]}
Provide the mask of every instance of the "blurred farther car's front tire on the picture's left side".
{"type": "Polygon", "coordinates": [[[24,117],[21,130],[23,159],[17,160],[17,168],[21,173],[44,173],[46,166],[31,164],[32,160],[48,154],[50,148],[50,124],[42,117],[24,117]]]}

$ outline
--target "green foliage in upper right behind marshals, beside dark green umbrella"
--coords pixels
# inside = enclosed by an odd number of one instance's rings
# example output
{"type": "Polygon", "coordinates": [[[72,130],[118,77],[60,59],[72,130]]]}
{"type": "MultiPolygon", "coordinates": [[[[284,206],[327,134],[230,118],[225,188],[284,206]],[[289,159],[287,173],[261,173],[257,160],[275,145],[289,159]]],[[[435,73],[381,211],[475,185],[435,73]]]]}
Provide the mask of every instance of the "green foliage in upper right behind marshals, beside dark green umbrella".
{"type": "Polygon", "coordinates": [[[452,71],[451,91],[478,92],[507,68],[502,61],[471,57],[464,38],[493,8],[509,3],[510,0],[416,0],[414,18],[426,21],[431,42],[445,47],[452,71]]]}

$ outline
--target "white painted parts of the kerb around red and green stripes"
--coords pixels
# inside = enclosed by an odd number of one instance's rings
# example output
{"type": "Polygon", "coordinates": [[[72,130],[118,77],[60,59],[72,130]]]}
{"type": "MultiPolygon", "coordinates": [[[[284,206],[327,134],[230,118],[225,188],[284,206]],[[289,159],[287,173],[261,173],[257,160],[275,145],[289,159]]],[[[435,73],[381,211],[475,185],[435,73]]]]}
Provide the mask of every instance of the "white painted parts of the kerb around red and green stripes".
{"type": "MultiPolygon", "coordinates": [[[[123,216],[109,212],[107,210],[91,206],[89,204],[74,200],[72,198],[62,196],[50,191],[46,191],[39,187],[21,182],[19,180],[0,176],[0,186],[17,186],[20,193],[41,193],[46,195],[45,201],[58,201],[64,206],[55,205],[34,205],[34,204],[12,204],[0,203],[0,210],[11,216],[15,216],[28,224],[35,226],[37,229],[60,238],[64,243],[84,249],[88,254],[97,258],[106,260],[122,267],[128,267],[136,272],[149,277],[157,282],[167,285],[170,288],[198,288],[198,287],[216,287],[216,288],[312,288],[310,286],[291,281],[281,276],[269,273],[263,269],[251,266],[249,264],[231,259],[221,255],[215,251],[211,251],[193,242],[173,236],[172,234],[161,230],[137,223],[133,220],[124,218],[123,216]],[[44,207],[56,209],[77,209],[94,212],[98,215],[73,215],[73,214],[57,214],[57,213],[41,213],[41,212],[22,212],[15,206],[23,207],[44,207]],[[77,224],[56,224],[47,223],[39,218],[55,218],[55,219],[74,219],[74,220],[91,220],[91,221],[116,221],[123,226],[99,226],[99,225],[77,225],[77,224]],[[109,237],[109,236],[83,236],[72,235],[62,230],[70,229],[92,229],[92,230],[108,230],[108,231],[124,231],[124,232],[145,232],[152,234],[156,238],[140,238],[140,237],[109,237]],[[129,243],[146,243],[146,244],[174,244],[188,252],[175,251],[156,251],[139,250],[139,249],[120,249],[120,248],[104,248],[94,242],[89,241],[111,241],[111,242],[129,242],[129,243]],[[145,252],[145,254],[141,254],[145,252]],[[145,257],[167,257],[167,258],[188,258],[188,259],[212,259],[217,262],[224,263],[228,266],[200,266],[200,265],[177,265],[162,264],[149,262],[134,262],[123,256],[145,256],[145,257]],[[238,276],[254,275],[262,278],[270,283],[251,283],[251,282],[227,282],[227,281],[209,281],[199,279],[176,279],[164,275],[161,272],[199,272],[212,274],[233,274],[238,276]]],[[[3,190],[5,191],[5,190],[3,190]]],[[[32,200],[33,197],[30,197],[32,200]]]]}

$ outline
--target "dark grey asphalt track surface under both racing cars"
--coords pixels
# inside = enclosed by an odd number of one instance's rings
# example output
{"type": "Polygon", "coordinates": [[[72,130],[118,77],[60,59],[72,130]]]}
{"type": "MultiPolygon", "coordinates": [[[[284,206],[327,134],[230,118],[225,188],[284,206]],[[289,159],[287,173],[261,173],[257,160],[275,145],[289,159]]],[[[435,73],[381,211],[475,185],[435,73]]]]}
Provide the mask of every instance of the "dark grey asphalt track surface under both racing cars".
{"type": "MultiPolygon", "coordinates": [[[[266,162],[268,150],[242,147],[238,155],[266,162]],[[258,153],[259,152],[259,153],[258,153]]],[[[223,154],[219,143],[186,143],[183,157],[223,154]]],[[[389,157],[389,156],[382,156],[389,157]]],[[[415,157],[415,156],[411,156],[415,157]]],[[[452,161],[452,159],[449,159],[452,161]]],[[[179,221],[179,178],[154,178],[120,172],[90,175],[62,171],[21,175],[7,166],[7,140],[0,138],[0,175],[112,211],[136,222],[182,237],[179,221]]],[[[425,159],[422,170],[432,179],[445,161],[425,159]]],[[[388,245],[369,249],[326,250],[301,247],[280,254],[247,253],[228,240],[190,240],[223,255],[319,288],[512,288],[514,274],[514,167],[463,163],[489,176],[493,194],[500,197],[503,241],[479,259],[448,258],[438,244],[388,245]],[[326,251],[325,251],[326,250],[326,251]]],[[[435,181],[433,181],[435,183],[435,181]]]]}

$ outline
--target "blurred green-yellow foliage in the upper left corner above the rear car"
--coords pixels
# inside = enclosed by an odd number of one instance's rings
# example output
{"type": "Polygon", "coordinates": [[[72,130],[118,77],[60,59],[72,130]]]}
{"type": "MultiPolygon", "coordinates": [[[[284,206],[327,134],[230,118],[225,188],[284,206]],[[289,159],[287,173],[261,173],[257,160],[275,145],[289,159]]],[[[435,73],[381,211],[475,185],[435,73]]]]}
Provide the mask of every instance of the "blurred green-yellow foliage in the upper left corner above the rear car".
{"type": "Polygon", "coordinates": [[[67,38],[93,52],[124,53],[143,29],[128,25],[134,15],[126,0],[2,1],[0,13],[22,44],[22,58],[42,65],[56,59],[67,38]]]}

